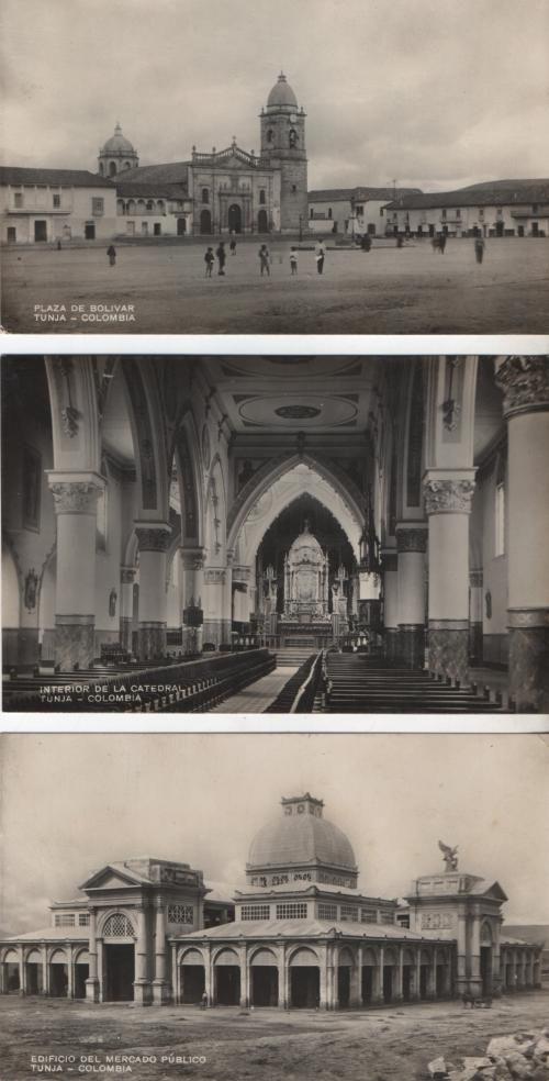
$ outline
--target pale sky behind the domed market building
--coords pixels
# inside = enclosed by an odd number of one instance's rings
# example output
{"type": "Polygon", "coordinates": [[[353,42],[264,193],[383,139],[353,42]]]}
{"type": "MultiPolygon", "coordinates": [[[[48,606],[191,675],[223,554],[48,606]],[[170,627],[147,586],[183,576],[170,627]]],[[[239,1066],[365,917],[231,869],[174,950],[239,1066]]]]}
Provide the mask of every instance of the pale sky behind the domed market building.
{"type": "Polygon", "coordinates": [[[549,923],[549,738],[512,735],[9,735],[0,934],[45,927],[51,899],[110,860],[155,855],[242,879],[282,795],[309,790],[374,896],[442,870],[497,879],[505,918],[549,923]]]}

